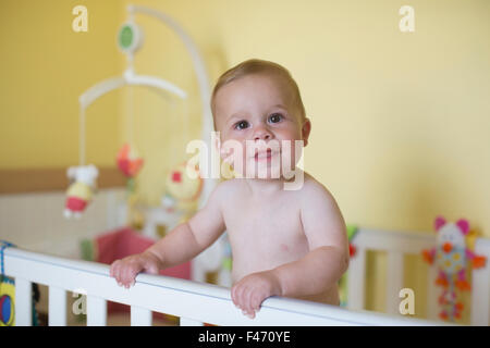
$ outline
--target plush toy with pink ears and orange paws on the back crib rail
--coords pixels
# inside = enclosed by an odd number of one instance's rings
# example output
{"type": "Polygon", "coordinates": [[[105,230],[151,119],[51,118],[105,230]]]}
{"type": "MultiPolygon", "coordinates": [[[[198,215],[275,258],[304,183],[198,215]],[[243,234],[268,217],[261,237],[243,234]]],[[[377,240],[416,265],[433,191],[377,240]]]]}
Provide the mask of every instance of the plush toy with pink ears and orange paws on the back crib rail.
{"type": "Polygon", "coordinates": [[[438,216],[434,221],[438,233],[437,246],[430,250],[422,250],[424,260],[429,264],[436,262],[438,278],[436,284],[443,287],[439,297],[442,311],[439,316],[442,320],[455,321],[461,319],[463,302],[458,300],[458,293],[470,290],[466,271],[468,266],[482,268],[486,258],[476,256],[467,246],[469,223],[458,220],[456,223],[448,223],[444,217],[438,216]]]}

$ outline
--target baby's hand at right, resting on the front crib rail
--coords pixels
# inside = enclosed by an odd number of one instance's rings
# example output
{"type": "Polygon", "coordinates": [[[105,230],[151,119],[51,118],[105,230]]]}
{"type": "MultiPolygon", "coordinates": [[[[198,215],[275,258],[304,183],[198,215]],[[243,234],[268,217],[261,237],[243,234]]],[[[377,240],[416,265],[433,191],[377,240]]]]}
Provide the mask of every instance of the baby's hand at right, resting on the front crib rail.
{"type": "Polygon", "coordinates": [[[231,290],[233,303],[242,309],[242,312],[255,318],[262,301],[275,295],[281,295],[281,284],[272,271],[249,274],[236,283],[231,290]]]}

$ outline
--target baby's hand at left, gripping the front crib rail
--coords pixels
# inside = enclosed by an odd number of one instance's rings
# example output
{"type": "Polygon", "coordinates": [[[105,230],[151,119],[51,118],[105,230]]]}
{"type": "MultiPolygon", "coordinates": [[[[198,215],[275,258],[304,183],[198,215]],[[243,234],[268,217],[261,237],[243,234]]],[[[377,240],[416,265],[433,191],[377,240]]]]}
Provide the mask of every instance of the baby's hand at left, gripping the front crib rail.
{"type": "Polygon", "coordinates": [[[112,262],[109,274],[120,286],[130,288],[134,285],[134,278],[139,272],[158,274],[160,268],[161,261],[155,254],[143,252],[112,262]]]}

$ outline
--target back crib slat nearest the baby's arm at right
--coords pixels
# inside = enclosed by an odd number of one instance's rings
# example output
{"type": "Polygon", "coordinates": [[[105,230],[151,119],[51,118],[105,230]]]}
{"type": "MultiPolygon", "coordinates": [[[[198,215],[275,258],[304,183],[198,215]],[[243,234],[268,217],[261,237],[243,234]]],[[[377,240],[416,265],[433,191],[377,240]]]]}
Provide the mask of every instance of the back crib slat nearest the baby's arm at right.
{"type": "Polygon", "coordinates": [[[357,250],[348,265],[347,308],[362,310],[365,306],[366,249],[356,245],[357,250]]]}

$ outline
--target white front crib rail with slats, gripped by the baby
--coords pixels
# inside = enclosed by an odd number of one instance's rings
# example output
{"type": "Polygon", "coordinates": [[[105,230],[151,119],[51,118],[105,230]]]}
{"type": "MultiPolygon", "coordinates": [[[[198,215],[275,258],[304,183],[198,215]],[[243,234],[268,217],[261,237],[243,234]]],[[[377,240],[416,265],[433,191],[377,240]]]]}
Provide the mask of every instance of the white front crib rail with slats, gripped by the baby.
{"type": "Polygon", "coordinates": [[[87,325],[106,325],[107,301],[131,306],[132,325],[150,325],[151,311],[181,318],[181,325],[434,325],[431,321],[346,310],[308,301],[269,298],[254,320],[243,315],[230,290],[210,284],[139,274],[119,287],[101,263],[62,259],[16,248],[4,252],[5,274],[15,278],[15,324],[32,324],[30,284],[49,286],[49,324],[65,325],[65,291],[87,295],[87,325]]]}

